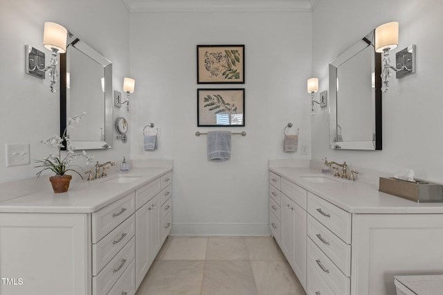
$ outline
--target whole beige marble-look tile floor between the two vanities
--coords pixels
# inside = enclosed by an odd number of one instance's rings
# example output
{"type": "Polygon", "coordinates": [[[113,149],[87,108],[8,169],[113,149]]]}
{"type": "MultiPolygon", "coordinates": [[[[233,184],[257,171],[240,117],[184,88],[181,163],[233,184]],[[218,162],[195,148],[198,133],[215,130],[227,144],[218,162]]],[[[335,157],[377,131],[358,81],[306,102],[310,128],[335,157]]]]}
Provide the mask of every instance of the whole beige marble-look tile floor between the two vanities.
{"type": "Polygon", "coordinates": [[[136,295],[305,295],[271,237],[171,237],[136,295]]]}

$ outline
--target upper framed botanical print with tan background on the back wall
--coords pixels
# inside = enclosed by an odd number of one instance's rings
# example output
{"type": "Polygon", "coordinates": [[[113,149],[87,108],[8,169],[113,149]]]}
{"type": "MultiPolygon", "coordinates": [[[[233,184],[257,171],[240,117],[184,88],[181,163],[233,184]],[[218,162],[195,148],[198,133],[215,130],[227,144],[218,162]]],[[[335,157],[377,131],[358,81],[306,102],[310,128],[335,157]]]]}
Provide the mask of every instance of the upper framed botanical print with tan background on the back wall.
{"type": "Polygon", "coordinates": [[[197,45],[197,83],[244,84],[244,45],[197,45]]]}

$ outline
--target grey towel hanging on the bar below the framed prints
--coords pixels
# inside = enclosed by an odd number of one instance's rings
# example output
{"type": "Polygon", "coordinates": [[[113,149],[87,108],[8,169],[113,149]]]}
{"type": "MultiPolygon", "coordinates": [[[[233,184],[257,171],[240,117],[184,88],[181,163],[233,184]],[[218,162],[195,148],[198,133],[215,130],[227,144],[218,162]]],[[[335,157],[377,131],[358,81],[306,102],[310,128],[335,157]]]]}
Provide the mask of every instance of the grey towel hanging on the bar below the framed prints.
{"type": "Polygon", "coordinates": [[[206,138],[208,160],[225,161],[230,159],[230,132],[211,131],[206,138]]]}

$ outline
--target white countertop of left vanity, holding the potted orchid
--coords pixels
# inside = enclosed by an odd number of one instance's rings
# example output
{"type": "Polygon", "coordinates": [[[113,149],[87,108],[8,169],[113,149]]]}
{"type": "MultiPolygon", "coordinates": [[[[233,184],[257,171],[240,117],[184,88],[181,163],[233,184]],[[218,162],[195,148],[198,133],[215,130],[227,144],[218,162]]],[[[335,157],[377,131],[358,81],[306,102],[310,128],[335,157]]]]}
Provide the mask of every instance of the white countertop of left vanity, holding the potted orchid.
{"type": "Polygon", "coordinates": [[[55,194],[49,185],[47,190],[0,202],[0,213],[93,213],[170,171],[172,167],[132,168],[125,175],[140,179],[109,183],[118,177],[109,174],[97,181],[73,182],[66,193],[55,194]]]}

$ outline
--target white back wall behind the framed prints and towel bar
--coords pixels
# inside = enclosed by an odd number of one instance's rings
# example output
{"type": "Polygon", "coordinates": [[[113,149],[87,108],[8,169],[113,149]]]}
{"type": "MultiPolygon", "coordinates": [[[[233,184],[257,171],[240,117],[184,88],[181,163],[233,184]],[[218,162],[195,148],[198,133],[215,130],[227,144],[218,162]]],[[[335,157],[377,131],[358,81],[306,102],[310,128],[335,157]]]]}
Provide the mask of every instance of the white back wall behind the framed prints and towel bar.
{"type": "Polygon", "coordinates": [[[176,235],[266,235],[268,159],[309,159],[311,12],[133,13],[133,159],[174,159],[176,235]],[[197,84],[197,44],[244,44],[246,84],[197,84]],[[197,128],[197,88],[245,88],[246,127],[197,128]],[[300,128],[299,151],[282,152],[282,132],[300,128]],[[159,128],[159,150],[139,154],[143,127],[159,128]],[[229,129],[232,157],[211,162],[206,136],[229,129]]]}

